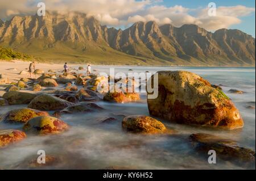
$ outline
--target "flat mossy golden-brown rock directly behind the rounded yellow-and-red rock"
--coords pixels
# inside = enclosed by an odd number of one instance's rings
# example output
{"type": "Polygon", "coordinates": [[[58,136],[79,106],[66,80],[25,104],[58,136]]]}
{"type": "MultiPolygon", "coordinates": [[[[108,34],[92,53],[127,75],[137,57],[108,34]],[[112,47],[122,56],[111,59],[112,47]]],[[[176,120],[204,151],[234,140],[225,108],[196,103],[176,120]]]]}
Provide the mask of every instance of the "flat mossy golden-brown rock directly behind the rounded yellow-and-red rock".
{"type": "Polygon", "coordinates": [[[9,123],[26,123],[28,120],[38,116],[48,116],[47,112],[32,110],[29,108],[20,108],[11,110],[0,117],[0,121],[9,123]]]}

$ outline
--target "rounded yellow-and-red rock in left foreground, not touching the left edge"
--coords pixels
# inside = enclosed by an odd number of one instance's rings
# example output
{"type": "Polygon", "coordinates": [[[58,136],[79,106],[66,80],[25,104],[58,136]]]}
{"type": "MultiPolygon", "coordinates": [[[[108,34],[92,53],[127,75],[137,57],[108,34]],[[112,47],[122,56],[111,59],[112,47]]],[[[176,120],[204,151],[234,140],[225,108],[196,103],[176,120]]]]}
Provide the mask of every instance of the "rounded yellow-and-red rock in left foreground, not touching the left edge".
{"type": "Polygon", "coordinates": [[[51,116],[35,117],[24,125],[24,131],[37,134],[56,134],[68,129],[68,124],[51,116]]]}

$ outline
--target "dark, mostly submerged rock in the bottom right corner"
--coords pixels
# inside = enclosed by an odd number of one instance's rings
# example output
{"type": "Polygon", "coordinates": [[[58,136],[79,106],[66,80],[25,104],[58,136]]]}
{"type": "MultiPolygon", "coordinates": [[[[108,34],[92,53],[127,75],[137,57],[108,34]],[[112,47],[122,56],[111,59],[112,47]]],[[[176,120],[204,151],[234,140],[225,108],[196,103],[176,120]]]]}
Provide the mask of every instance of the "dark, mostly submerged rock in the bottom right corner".
{"type": "Polygon", "coordinates": [[[203,133],[191,134],[189,139],[196,150],[204,151],[205,154],[208,154],[209,150],[214,150],[218,157],[222,159],[254,162],[255,166],[255,151],[238,146],[232,140],[203,133]]]}

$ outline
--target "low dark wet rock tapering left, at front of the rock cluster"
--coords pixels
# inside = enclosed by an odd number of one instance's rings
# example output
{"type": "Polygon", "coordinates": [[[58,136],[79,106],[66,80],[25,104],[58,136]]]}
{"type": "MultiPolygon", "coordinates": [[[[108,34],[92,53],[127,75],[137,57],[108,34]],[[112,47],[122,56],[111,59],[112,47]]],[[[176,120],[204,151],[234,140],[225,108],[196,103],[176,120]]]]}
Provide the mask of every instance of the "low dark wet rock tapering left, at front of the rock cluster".
{"type": "Polygon", "coordinates": [[[64,108],[64,110],[57,111],[53,115],[62,115],[65,113],[88,113],[104,110],[104,108],[98,106],[96,103],[92,102],[80,102],[76,105],[64,108]]]}

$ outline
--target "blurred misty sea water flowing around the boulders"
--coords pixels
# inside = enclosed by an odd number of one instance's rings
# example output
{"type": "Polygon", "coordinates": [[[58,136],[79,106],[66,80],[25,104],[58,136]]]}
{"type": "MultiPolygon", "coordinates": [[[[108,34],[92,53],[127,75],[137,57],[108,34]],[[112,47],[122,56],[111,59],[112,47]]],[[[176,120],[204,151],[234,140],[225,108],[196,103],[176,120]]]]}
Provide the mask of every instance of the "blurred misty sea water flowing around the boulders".
{"type": "MultiPolygon", "coordinates": [[[[110,66],[93,66],[97,73],[109,74],[110,66]]],[[[192,133],[209,133],[230,138],[238,145],[255,150],[255,69],[254,68],[176,68],[176,67],[130,67],[114,66],[115,73],[159,70],[187,70],[201,75],[210,83],[223,85],[222,89],[240,110],[245,126],[234,131],[224,131],[179,125],[161,120],[166,127],[175,129],[171,135],[145,135],[127,133],[122,130],[122,115],[149,115],[146,95],[137,103],[113,104],[98,102],[105,110],[95,113],[65,115],[63,121],[71,126],[69,131],[48,136],[28,135],[16,144],[0,149],[0,169],[28,169],[27,162],[37,158],[38,150],[60,158],[56,165],[44,169],[246,169],[230,161],[217,158],[209,164],[204,153],[193,149],[188,140],[192,133]],[[245,94],[230,94],[238,89],[245,94]],[[115,117],[112,123],[100,123],[104,117],[115,117]]],[[[26,105],[0,107],[0,114],[26,105]]],[[[50,112],[52,113],[52,112],[50,112]]],[[[22,125],[0,123],[0,129],[20,129],[22,125]]]]}

